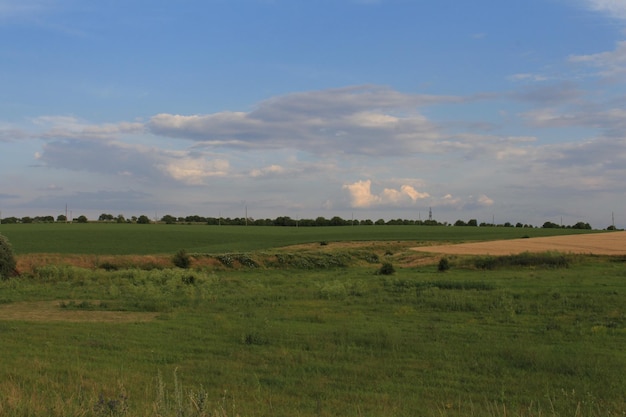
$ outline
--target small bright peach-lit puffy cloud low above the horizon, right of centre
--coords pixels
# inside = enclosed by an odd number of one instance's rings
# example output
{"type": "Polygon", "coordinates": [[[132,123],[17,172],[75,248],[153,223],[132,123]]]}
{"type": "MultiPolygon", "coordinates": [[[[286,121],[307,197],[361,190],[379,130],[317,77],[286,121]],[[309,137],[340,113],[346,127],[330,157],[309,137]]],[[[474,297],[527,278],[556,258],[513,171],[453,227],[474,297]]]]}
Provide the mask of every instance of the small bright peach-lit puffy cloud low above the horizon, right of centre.
{"type": "Polygon", "coordinates": [[[380,194],[373,194],[371,180],[356,181],[344,185],[343,188],[348,191],[354,208],[410,204],[430,197],[428,193],[419,192],[410,185],[402,185],[400,189],[385,188],[380,194]]]}

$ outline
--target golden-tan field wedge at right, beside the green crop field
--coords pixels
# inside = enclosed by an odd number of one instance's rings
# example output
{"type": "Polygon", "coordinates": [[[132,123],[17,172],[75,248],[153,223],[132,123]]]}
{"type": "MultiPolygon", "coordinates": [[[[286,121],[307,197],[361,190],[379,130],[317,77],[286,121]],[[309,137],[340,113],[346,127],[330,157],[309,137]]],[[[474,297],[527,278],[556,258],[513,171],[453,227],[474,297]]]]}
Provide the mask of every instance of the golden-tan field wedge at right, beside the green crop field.
{"type": "Polygon", "coordinates": [[[511,255],[522,252],[550,251],[594,255],[626,255],[626,232],[420,246],[412,249],[420,252],[450,255],[511,255]]]}

